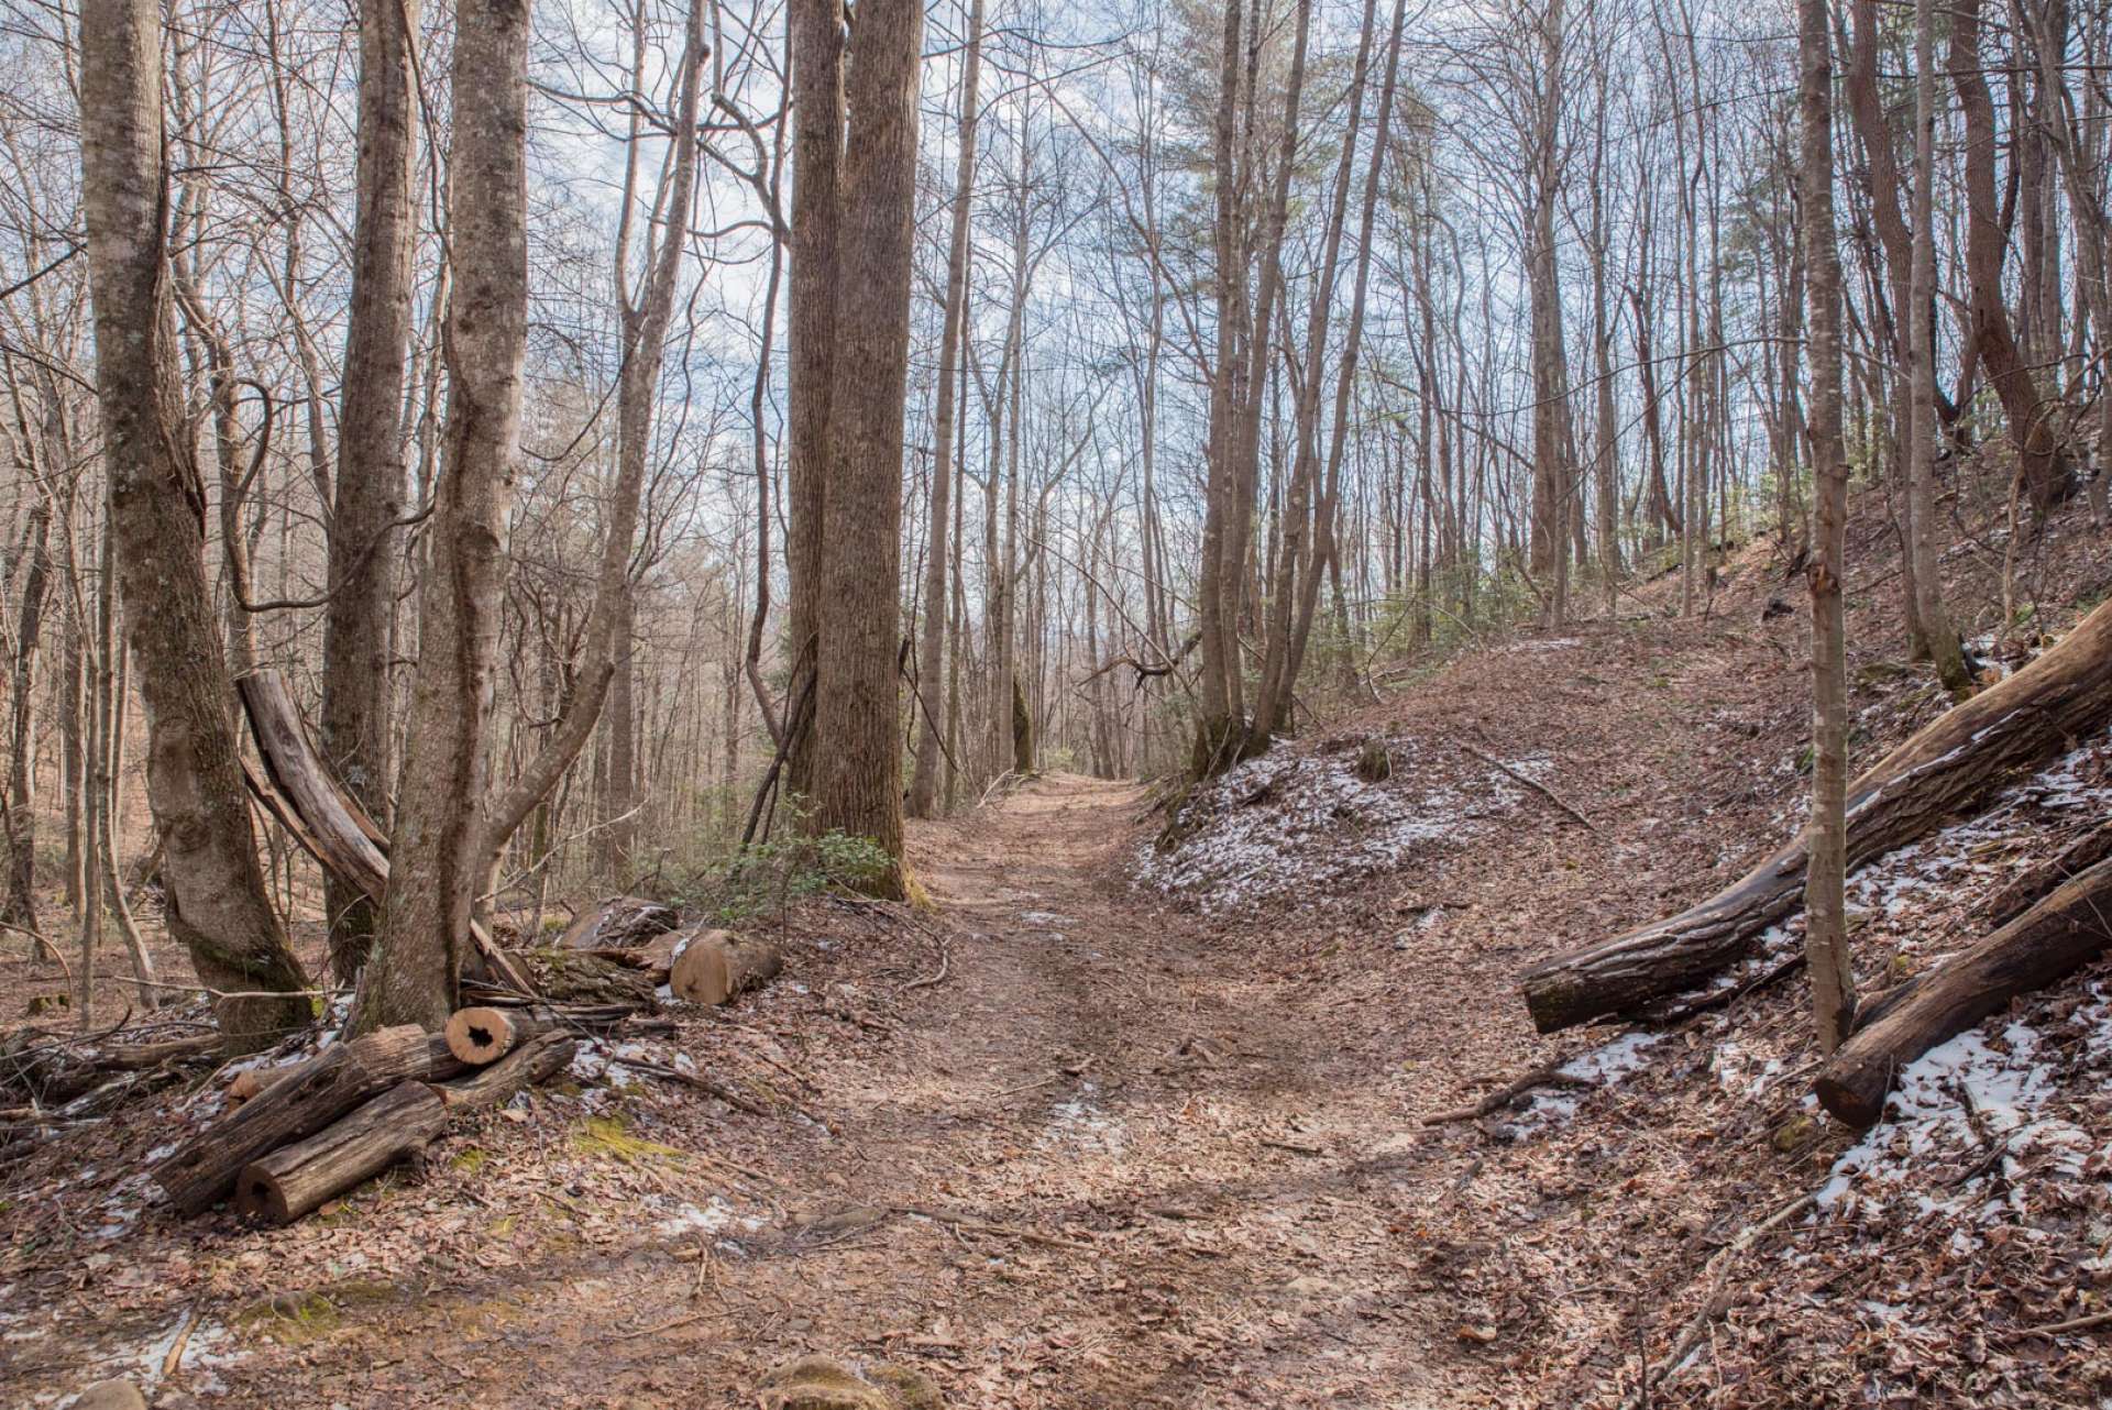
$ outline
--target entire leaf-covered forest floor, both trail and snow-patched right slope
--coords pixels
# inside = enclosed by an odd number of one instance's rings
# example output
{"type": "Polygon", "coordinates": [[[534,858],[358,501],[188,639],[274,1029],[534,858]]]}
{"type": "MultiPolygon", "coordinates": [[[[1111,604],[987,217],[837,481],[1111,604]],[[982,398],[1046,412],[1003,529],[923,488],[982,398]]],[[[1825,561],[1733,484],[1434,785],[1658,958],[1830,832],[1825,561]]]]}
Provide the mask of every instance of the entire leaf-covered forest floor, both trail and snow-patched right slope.
{"type": "MultiPolygon", "coordinates": [[[[1863,547],[1859,762],[1943,709],[1863,547]]],[[[2038,623],[2112,589],[2101,549],[2080,515],[2040,540],[2038,623]]],[[[1799,975],[1531,1030],[1525,965],[1802,817],[1799,585],[1755,547],[1709,614],[1673,591],[1396,675],[1181,808],[1050,775],[912,825],[936,908],[803,906],[777,984],[291,1228],[152,1207],[142,1161],[213,1085],[53,1142],[0,1182],[0,1404],[122,1374],[165,1410],[752,1406],[805,1351],[1020,1410],[1611,1408],[1675,1359],[1647,1404],[2112,1404],[2106,1323],[2047,1330],[2112,1296],[2106,965],[1916,1064],[1867,1136],[1812,1110],[1799,975]]],[[[2108,811],[2101,735],[1859,872],[1865,990],[2108,811]]]]}

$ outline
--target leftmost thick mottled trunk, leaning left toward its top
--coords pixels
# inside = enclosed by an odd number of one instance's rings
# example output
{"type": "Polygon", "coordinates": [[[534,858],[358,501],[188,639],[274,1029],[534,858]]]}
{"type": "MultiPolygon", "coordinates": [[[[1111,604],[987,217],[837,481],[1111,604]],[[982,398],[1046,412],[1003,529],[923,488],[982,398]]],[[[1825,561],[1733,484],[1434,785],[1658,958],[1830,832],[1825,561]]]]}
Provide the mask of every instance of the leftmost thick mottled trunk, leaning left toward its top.
{"type": "Polygon", "coordinates": [[[222,998],[230,1051],[308,1022],[306,975],[264,895],[234,743],[234,701],[205,583],[199,469],[175,378],[163,209],[161,8],[89,0],[80,21],[82,207],[112,534],[139,694],[148,802],[165,840],[169,935],[222,998]]]}

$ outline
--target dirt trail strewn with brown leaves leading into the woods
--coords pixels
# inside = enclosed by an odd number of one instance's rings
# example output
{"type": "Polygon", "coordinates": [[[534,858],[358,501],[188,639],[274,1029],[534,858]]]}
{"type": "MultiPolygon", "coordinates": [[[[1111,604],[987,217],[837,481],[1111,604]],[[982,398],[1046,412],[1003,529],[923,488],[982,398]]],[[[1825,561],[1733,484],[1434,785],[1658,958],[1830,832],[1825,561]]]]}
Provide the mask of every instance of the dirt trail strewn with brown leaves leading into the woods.
{"type": "MultiPolygon", "coordinates": [[[[809,1349],[919,1364],[955,1406],[1470,1404],[1487,1376],[1409,1292],[1409,1121],[1259,948],[1111,884],[1140,802],[1056,775],[914,832],[942,920],[893,956],[893,1030],[794,1055],[826,1131],[644,1152],[674,1220],[530,1197],[511,1266],[237,1332],[213,1404],[752,1406],[809,1349]]],[[[830,992],[883,988],[853,973],[830,992]]],[[[467,1209],[448,1188],[429,1207],[467,1209]]]]}

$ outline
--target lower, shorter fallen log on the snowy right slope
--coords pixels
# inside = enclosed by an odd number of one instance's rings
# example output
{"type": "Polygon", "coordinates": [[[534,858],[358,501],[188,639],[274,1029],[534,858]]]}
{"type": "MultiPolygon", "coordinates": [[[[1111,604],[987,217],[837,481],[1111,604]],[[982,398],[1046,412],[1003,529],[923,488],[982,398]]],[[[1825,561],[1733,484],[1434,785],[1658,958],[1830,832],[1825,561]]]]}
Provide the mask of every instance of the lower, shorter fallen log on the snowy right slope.
{"type": "Polygon", "coordinates": [[[2011,998],[2044,988],[2112,946],[2112,861],[2063,882],[1994,935],[1913,982],[1878,1022],[1818,1068],[1818,1102],[1854,1127],[1884,1114],[1903,1066],[2011,998]]]}

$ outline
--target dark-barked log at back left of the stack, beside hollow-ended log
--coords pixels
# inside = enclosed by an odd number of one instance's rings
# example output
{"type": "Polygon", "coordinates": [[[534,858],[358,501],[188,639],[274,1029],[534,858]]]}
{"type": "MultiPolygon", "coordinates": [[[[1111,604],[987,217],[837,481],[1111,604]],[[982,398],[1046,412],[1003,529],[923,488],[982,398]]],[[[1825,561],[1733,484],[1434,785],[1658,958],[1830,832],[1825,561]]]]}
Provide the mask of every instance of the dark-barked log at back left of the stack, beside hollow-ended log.
{"type": "Polygon", "coordinates": [[[433,1074],[433,1041],[416,1024],[382,1028],[325,1049],[260,1095],[211,1123],[150,1174],[169,1203],[203,1214],[234,1188],[251,1161],[321,1131],[378,1091],[433,1074]]]}

